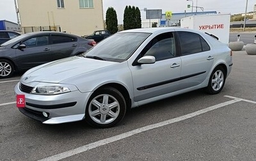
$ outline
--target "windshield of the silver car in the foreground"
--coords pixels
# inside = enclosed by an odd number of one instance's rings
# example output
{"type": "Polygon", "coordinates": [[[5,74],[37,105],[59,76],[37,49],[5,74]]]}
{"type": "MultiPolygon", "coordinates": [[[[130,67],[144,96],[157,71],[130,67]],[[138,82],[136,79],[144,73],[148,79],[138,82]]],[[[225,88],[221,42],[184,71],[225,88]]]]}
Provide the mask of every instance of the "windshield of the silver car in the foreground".
{"type": "Polygon", "coordinates": [[[150,33],[116,33],[83,54],[84,57],[105,61],[125,61],[150,33]]]}

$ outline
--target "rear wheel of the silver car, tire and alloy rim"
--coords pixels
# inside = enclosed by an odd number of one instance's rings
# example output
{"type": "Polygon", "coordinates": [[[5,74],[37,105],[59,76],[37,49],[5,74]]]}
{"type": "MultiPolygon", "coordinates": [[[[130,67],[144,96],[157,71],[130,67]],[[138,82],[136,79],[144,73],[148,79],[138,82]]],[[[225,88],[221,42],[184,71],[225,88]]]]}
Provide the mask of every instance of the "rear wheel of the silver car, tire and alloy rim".
{"type": "Polygon", "coordinates": [[[215,95],[220,93],[226,81],[226,72],[221,66],[217,66],[211,73],[206,92],[215,95]]]}

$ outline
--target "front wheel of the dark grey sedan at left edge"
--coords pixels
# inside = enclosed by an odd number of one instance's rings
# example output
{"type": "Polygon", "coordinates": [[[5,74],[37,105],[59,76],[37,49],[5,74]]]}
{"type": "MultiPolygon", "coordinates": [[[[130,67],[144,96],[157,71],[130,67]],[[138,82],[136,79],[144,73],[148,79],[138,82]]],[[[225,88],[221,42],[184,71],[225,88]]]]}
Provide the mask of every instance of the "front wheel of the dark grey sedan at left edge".
{"type": "Polygon", "coordinates": [[[13,63],[6,59],[0,59],[0,79],[12,77],[13,73],[13,63]]]}

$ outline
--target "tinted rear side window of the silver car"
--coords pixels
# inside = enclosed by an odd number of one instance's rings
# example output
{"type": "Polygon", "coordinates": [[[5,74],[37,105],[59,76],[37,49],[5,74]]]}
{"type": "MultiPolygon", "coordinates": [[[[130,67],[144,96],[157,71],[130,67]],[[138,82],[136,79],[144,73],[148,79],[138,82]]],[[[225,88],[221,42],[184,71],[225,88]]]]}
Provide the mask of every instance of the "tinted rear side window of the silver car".
{"type": "Polygon", "coordinates": [[[207,42],[199,34],[184,31],[178,33],[182,56],[210,50],[207,42]]]}

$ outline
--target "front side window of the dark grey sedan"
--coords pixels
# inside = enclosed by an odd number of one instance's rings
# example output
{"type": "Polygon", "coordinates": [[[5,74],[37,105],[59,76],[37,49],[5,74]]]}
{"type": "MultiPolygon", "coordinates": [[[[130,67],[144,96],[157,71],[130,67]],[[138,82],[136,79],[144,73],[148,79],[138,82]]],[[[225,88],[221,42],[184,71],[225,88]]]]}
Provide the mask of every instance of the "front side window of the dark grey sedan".
{"type": "Polygon", "coordinates": [[[28,40],[22,42],[22,44],[25,44],[26,48],[49,45],[49,36],[36,36],[29,38],[28,40]]]}

